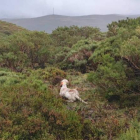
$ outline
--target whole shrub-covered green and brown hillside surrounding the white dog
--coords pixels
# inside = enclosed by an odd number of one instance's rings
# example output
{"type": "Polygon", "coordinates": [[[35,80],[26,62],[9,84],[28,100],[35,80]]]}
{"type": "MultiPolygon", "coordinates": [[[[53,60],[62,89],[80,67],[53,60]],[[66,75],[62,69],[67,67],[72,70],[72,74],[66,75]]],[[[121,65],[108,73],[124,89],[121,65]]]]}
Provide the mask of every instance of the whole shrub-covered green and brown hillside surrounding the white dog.
{"type": "Polygon", "coordinates": [[[0,22],[0,139],[140,139],[140,18],[108,29],[0,22]],[[60,98],[63,78],[87,105],[60,98]]]}

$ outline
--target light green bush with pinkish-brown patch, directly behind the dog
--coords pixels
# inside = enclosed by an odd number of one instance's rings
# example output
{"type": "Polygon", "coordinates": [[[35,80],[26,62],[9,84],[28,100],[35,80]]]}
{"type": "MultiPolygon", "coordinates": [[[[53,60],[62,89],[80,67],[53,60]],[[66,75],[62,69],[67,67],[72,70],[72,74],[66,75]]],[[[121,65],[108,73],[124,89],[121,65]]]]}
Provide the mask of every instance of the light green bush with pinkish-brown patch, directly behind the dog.
{"type": "Polygon", "coordinates": [[[83,73],[87,72],[94,63],[89,58],[97,48],[98,43],[90,40],[78,41],[71,49],[65,49],[60,51],[56,57],[61,60],[60,67],[63,69],[76,69],[83,73]],[[66,54],[67,52],[67,54],[66,54]]]}

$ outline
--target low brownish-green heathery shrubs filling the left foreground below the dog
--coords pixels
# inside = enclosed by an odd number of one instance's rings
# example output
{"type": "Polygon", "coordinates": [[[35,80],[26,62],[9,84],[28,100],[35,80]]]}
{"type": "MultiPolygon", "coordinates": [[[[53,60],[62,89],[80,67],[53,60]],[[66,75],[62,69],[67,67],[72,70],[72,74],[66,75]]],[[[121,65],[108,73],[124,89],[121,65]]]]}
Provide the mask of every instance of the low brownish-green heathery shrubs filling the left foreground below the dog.
{"type": "Polygon", "coordinates": [[[66,109],[62,100],[39,80],[0,87],[0,138],[2,139],[81,139],[89,122],[66,109]]]}

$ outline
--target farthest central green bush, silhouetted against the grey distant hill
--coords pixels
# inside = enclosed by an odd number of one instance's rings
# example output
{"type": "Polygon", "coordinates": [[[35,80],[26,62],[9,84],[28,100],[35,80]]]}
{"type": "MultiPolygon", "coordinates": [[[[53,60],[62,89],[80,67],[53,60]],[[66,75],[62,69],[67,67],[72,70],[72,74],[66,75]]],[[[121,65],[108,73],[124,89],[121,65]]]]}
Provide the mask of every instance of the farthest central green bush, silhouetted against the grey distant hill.
{"type": "Polygon", "coordinates": [[[104,35],[97,28],[93,27],[58,27],[51,34],[54,45],[57,47],[72,47],[79,40],[91,38],[92,40],[102,40],[104,35]]]}

